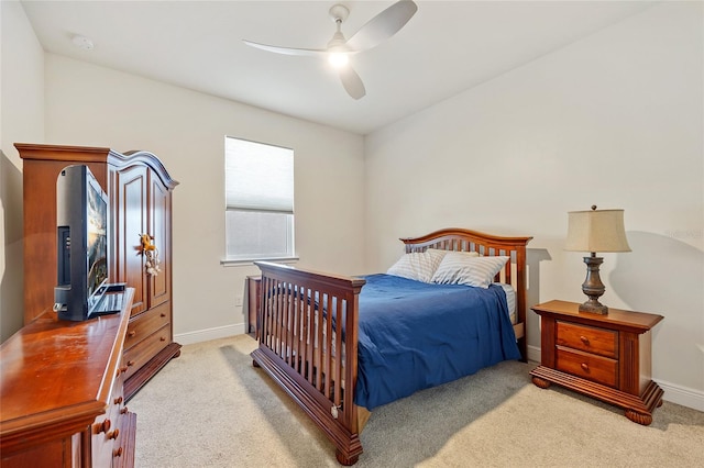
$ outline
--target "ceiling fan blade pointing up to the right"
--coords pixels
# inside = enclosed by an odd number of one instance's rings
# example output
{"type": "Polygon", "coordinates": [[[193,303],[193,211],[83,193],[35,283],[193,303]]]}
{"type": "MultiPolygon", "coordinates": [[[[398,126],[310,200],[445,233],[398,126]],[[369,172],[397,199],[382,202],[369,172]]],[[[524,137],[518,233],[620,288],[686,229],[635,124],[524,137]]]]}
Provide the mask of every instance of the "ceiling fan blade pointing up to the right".
{"type": "Polygon", "coordinates": [[[346,44],[356,52],[375,47],[404,27],[416,11],[418,5],[415,2],[397,1],[360,27],[346,44]]]}

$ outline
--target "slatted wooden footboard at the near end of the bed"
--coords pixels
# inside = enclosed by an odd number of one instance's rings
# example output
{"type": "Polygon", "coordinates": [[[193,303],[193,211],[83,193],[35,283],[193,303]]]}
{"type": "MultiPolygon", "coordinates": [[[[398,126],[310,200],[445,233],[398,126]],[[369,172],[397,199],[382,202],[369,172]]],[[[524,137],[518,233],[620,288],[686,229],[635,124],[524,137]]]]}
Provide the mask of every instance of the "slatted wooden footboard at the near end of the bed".
{"type": "Polygon", "coordinates": [[[359,294],[365,280],[266,261],[255,265],[262,270],[262,307],[254,365],[323,430],[338,460],[352,465],[362,453],[353,398],[359,294]]]}

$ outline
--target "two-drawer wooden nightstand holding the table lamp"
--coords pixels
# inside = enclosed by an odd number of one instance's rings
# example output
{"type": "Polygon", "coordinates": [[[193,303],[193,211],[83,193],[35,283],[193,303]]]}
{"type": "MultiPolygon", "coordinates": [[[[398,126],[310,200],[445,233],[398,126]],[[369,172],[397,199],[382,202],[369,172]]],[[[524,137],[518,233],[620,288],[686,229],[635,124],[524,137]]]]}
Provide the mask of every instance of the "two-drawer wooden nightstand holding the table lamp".
{"type": "Polygon", "coordinates": [[[650,330],[662,315],[609,308],[607,315],[579,312],[580,304],[532,307],[541,317],[541,363],[530,375],[540,388],[554,383],[623,408],[649,425],[663,391],[650,378],[650,330]]]}

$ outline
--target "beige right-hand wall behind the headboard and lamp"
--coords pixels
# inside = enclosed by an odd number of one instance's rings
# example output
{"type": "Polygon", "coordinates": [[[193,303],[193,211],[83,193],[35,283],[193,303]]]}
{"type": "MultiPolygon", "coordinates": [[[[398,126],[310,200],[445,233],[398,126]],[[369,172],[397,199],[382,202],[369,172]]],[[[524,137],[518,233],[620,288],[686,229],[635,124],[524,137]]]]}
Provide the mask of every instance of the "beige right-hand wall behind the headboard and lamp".
{"type": "Polygon", "coordinates": [[[603,302],[664,315],[653,377],[704,410],[703,27],[702,3],[661,4],[369,135],[367,266],[438,227],[532,235],[531,303],[582,302],[566,212],[623,208],[603,302]]]}

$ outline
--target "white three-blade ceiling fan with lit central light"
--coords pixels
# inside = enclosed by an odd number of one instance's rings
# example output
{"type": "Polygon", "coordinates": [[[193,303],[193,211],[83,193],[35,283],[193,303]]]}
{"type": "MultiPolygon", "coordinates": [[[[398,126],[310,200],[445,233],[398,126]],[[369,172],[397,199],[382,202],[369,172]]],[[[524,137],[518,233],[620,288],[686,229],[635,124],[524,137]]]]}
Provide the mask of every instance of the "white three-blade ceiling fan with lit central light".
{"type": "Polygon", "coordinates": [[[361,99],[366,94],[362,78],[349,65],[351,55],[370,49],[396,34],[416,14],[418,5],[410,0],[402,0],[388,7],[386,10],[372,18],[359,29],[349,40],[344,38],[341,27],[350,14],[350,10],[343,4],[334,4],[330,8],[330,16],[338,26],[326,48],[293,48],[276,45],[258,44],[252,41],[243,42],[252,47],[285,55],[302,55],[328,58],[338,68],[342,86],[354,99],[361,99]]]}

